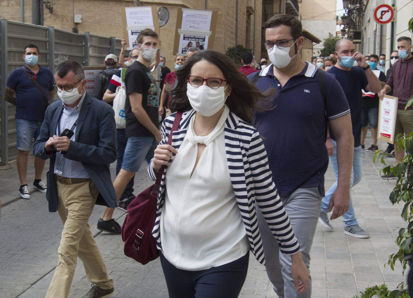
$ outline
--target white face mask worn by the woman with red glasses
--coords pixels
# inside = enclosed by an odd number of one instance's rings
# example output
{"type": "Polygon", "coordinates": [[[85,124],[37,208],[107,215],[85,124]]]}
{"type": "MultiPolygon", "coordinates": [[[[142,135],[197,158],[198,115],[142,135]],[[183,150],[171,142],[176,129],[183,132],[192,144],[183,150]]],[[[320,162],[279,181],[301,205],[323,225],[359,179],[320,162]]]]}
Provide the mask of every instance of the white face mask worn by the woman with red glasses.
{"type": "Polygon", "coordinates": [[[227,99],[227,96],[225,96],[225,88],[221,86],[219,88],[212,89],[207,85],[194,87],[188,83],[186,95],[188,96],[189,102],[195,111],[202,116],[212,116],[216,114],[225,104],[225,100],[227,99]]]}

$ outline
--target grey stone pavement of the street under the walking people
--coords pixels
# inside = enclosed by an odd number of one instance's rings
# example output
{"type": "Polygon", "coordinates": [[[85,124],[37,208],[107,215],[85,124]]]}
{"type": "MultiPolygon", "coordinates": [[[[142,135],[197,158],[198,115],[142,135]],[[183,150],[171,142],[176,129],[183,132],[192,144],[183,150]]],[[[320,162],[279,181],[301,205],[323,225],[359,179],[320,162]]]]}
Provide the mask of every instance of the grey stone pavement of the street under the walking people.
{"type": "MultiPolygon", "coordinates": [[[[369,144],[370,139],[367,138],[366,148],[369,144]]],[[[384,150],[386,144],[379,142],[379,147],[384,150]]],[[[395,271],[384,267],[389,254],[397,250],[395,229],[403,227],[404,222],[400,217],[400,206],[392,206],[388,199],[395,180],[380,179],[381,165],[374,164],[372,156],[373,153],[363,153],[363,177],[352,189],[359,225],[371,237],[356,239],[346,236],[341,218],[332,222],[333,232],[318,225],[311,249],[313,298],[351,298],[367,286],[386,283],[395,287],[405,280],[399,264],[395,271]]],[[[394,159],[389,159],[389,162],[394,162],[394,159]]],[[[114,169],[115,164],[112,164],[113,179],[114,169]]],[[[30,186],[34,176],[32,161],[29,161],[27,176],[30,186]]],[[[328,188],[334,182],[331,168],[325,177],[328,188]]],[[[143,164],[135,176],[135,194],[151,183],[143,164]]],[[[0,196],[5,205],[1,209],[0,221],[0,298],[40,298],[45,296],[57,264],[62,223],[57,213],[47,212],[45,194],[34,191],[30,200],[19,199],[18,188],[15,162],[0,168],[0,196]]],[[[102,206],[96,206],[89,224],[109,275],[114,279],[115,293],[112,297],[168,297],[159,260],[142,266],[123,255],[120,235],[96,229],[102,211],[102,206]]],[[[114,216],[120,223],[124,215],[123,211],[115,210],[114,216]]],[[[69,295],[71,298],[82,297],[90,289],[82,267],[79,260],[69,295]]],[[[277,297],[264,267],[252,254],[240,297],[277,297]]]]}

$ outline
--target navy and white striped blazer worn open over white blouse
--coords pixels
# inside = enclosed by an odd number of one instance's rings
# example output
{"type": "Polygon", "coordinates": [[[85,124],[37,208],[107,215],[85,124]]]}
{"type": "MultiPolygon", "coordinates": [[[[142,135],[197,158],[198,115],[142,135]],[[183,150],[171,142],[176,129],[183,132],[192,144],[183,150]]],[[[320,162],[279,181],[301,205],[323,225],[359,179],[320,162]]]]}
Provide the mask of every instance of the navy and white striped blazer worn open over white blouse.
{"type": "MultiPolygon", "coordinates": [[[[176,113],[167,117],[162,123],[162,140],[160,144],[166,144],[168,142],[168,136],[171,132],[175,115],[176,113]]],[[[178,130],[172,134],[172,146],[176,148],[178,152],[184,140],[185,133],[187,132],[190,119],[194,115],[195,111],[193,109],[184,112],[178,130]]],[[[290,220],[282,206],[280,197],[277,194],[277,189],[272,180],[271,170],[268,168],[267,154],[263,142],[259,137],[259,133],[251,125],[230,112],[225,121],[224,135],[230,179],[251,245],[251,251],[254,253],[255,258],[261,264],[265,264],[255,203],[257,203],[261,209],[275,239],[278,241],[278,246],[282,253],[297,253],[299,251],[299,244],[294,236],[290,220]]],[[[173,161],[173,157],[174,155],[169,163],[173,161]]],[[[152,162],[153,159],[150,161],[147,170],[151,179],[155,181],[157,175],[152,169],[152,162]]],[[[162,249],[159,224],[165,202],[166,173],[167,166],[162,175],[157,200],[157,217],[152,231],[152,235],[157,240],[159,249],[162,249]]]]}

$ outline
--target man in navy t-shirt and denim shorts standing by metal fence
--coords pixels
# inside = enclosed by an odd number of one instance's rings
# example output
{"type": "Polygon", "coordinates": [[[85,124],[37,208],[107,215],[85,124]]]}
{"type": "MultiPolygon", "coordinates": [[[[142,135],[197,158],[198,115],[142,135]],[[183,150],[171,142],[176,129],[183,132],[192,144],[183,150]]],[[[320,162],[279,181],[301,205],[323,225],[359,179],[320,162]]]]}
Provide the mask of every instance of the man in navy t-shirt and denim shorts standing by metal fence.
{"type": "MultiPolygon", "coordinates": [[[[31,150],[31,142],[38,137],[40,126],[46,111],[46,102],[53,98],[55,82],[52,72],[38,64],[39,49],[36,45],[24,48],[23,67],[14,69],[7,78],[5,100],[16,105],[17,131],[17,171],[20,178],[19,194],[23,199],[30,199],[30,189],[26,183],[27,155],[31,150]],[[36,86],[31,76],[43,90],[36,86]],[[16,98],[14,99],[14,93],[16,98]]],[[[46,185],[41,181],[45,161],[34,158],[33,186],[40,192],[46,192],[46,185]]]]}

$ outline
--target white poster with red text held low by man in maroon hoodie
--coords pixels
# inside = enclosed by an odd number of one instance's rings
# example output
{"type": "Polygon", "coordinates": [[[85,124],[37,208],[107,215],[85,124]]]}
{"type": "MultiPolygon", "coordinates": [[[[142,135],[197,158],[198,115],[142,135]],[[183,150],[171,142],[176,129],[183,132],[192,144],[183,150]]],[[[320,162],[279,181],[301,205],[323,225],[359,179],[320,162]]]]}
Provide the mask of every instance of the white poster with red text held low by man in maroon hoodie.
{"type": "Polygon", "coordinates": [[[398,97],[385,95],[379,102],[377,139],[393,144],[398,97]]]}

